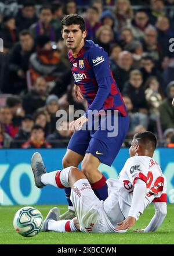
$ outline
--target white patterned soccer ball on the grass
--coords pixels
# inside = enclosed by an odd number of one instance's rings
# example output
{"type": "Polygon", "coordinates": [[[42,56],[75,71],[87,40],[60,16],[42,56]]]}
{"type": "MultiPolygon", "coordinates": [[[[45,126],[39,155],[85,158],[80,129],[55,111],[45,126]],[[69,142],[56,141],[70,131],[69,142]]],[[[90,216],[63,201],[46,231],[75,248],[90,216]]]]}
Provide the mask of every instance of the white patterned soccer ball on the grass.
{"type": "Polygon", "coordinates": [[[16,212],[13,219],[13,226],[21,236],[35,236],[41,230],[43,216],[38,209],[23,207],[16,212]]]}

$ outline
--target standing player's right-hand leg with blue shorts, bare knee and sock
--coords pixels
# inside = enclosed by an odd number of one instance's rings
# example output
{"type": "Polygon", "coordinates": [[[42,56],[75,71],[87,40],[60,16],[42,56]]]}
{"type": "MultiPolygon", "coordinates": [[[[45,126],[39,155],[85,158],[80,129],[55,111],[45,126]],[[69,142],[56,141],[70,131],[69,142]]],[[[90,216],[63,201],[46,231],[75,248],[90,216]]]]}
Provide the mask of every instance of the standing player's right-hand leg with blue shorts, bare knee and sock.
{"type": "MultiPolygon", "coordinates": [[[[129,128],[129,118],[121,115],[111,115],[107,117],[104,122],[108,122],[112,127],[118,127],[118,133],[115,135],[114,130],[102,130],[101,123],[99,130],[95,131],[86,150],[86,155],[82,161],[82,171],[88,178],[92,189],[100,200],[107,198],[107,184],[106,179],[99,172],[98,167],[100,162],[111,166],[115,157],[117,156],[125,136],[129,128]],[[113,136],[109,136],[113,134],[113,136]]],[[[106,128],[108,123],[106,124],[106,128]]]]}

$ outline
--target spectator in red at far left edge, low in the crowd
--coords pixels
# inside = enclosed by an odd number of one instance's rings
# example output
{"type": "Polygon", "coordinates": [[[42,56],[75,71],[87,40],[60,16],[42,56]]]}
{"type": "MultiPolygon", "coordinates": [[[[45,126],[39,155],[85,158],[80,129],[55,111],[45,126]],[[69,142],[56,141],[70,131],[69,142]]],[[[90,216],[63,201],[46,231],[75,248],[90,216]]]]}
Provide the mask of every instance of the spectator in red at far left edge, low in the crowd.
{"type": "Polygon", "coordinates": [[[19,127],[14,126],[12,120],[13,115],[10,108],[8,106],[0,106],[0,123],[5,132],[13,138],[18,133],[19,127]]]}

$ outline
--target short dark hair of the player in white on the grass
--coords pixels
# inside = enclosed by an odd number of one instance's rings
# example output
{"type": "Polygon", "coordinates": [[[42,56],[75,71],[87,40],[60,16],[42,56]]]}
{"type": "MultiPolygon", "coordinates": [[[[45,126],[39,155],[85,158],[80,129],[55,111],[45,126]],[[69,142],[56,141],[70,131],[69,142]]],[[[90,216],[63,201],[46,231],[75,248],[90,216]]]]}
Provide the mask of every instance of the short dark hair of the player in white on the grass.
{"type": "Polygon", "coordinates": [[[143,131],[142,133],[136,133],[133,137],[134,139],[139,139],[143,145],[147,145],[149,142],[153,146],[153,150],[157,147],[157,138],[151,131],[143,131]]]}

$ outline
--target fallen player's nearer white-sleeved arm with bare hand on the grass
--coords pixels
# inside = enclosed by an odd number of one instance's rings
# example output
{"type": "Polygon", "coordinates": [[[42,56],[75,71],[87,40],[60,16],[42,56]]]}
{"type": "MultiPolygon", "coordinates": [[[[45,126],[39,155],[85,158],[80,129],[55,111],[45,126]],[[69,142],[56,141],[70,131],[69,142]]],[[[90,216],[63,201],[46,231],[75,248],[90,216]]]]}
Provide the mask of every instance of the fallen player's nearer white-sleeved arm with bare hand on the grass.
{"type": "Polygon", "coordinates": [[[117,231],[130,229],[139,218],[140,209],[144,203],[146,195],[146,183],[142,179],[136,179],[133,190],[132,204],[128,217],[121,223],[118,223],[117,231]]]}

